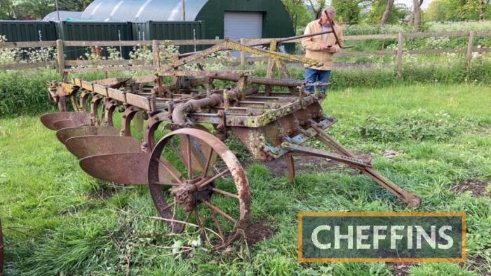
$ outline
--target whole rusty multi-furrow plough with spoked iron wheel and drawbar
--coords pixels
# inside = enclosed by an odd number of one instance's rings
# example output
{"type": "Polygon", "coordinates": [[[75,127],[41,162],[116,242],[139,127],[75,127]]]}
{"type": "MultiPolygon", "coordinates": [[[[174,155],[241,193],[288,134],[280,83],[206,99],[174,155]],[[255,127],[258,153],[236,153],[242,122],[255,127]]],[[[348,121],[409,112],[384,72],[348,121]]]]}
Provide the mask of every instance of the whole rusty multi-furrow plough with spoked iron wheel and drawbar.
{"type": "Polygon", "coordinates": [[[325,132],[336,118],[323,113],[321,95],[304,92],[304,82],[290,79],[283,64],[285,60],[318,62],[278,53],[276,46],[274,41],[271,50],[260,50],[224,41],[199,53],[182,55],[149,76],[52,82],[50,99],[62,112],[46,114],[41,122],[57,131],[60,142],[81,158],[81,168],[93,177],[123,185],[148,185],[156,209],[173,232],[184,230],[194,216],[200,229],[213,228],[217,238],[228,243],[236,237],[230,233],[237,233],[236,229],[249,222],[248,179],[234,153],[222,142],[229,132],[257,160],[285,156],[292,182],[295,154],[321,156],[360,170],[398,200],[419,206],[421,200],[416,195],[383,177],[325,132]],[[269,57],[267,78],[251,76],[251,71],[180,69],[220,50],[269,57]],[[273,78],[275,67],[285,79],[273,78]],[[164,85],[169,76],[173,82],[164,85]],[[219,89],[215,80],[235,85],[219,89]],[[69,102],[74,111],[67,111],[69,102]],[[116,111],[123,113],[122,130],[113,125],[116,111]],[[142,141],[131,133],[132,120],[138,116],[147,120],[142,141]],[[156,142],[160,125],[170,133],[156,142]],[[213,125],[216,134],[205,125],[213,125]],[[302,146],[309,139],[318,139],[332,152],[302,146]]]}

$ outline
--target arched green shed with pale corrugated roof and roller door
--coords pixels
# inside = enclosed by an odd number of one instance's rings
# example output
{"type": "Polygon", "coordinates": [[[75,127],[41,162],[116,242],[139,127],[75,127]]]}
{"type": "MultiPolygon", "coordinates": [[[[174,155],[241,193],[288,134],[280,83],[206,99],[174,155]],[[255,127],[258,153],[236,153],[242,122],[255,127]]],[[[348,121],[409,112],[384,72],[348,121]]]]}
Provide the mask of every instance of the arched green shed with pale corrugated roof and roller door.
{"type": "Polygon", "coordinates": [[[105,22],[202,21],[207,39],[260,39],[293,36],[281,0],[95,0],[82,20],[105,22]],[[183,13],[184,11],[184,13],[183,13]]]}

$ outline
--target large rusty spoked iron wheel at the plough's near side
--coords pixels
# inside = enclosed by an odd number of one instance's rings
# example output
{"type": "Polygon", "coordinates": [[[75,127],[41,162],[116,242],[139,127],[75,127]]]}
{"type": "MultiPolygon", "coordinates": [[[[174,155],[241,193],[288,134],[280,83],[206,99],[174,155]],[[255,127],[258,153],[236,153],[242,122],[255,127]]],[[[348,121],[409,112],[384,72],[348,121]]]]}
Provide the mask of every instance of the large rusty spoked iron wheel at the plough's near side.
{"type": "Polygon", "coordinates": [[[239,233],[250,218],[249,184],[241,163],[206,131],[184,128],[163,137],[152,151],[148,181],[155,207],[174,233],[192,223],[206,237],[216,235],[229,243],[240,237],[232,233],[239,233]],[[200,155],[204,161],[196,158],[200,155]]]}

